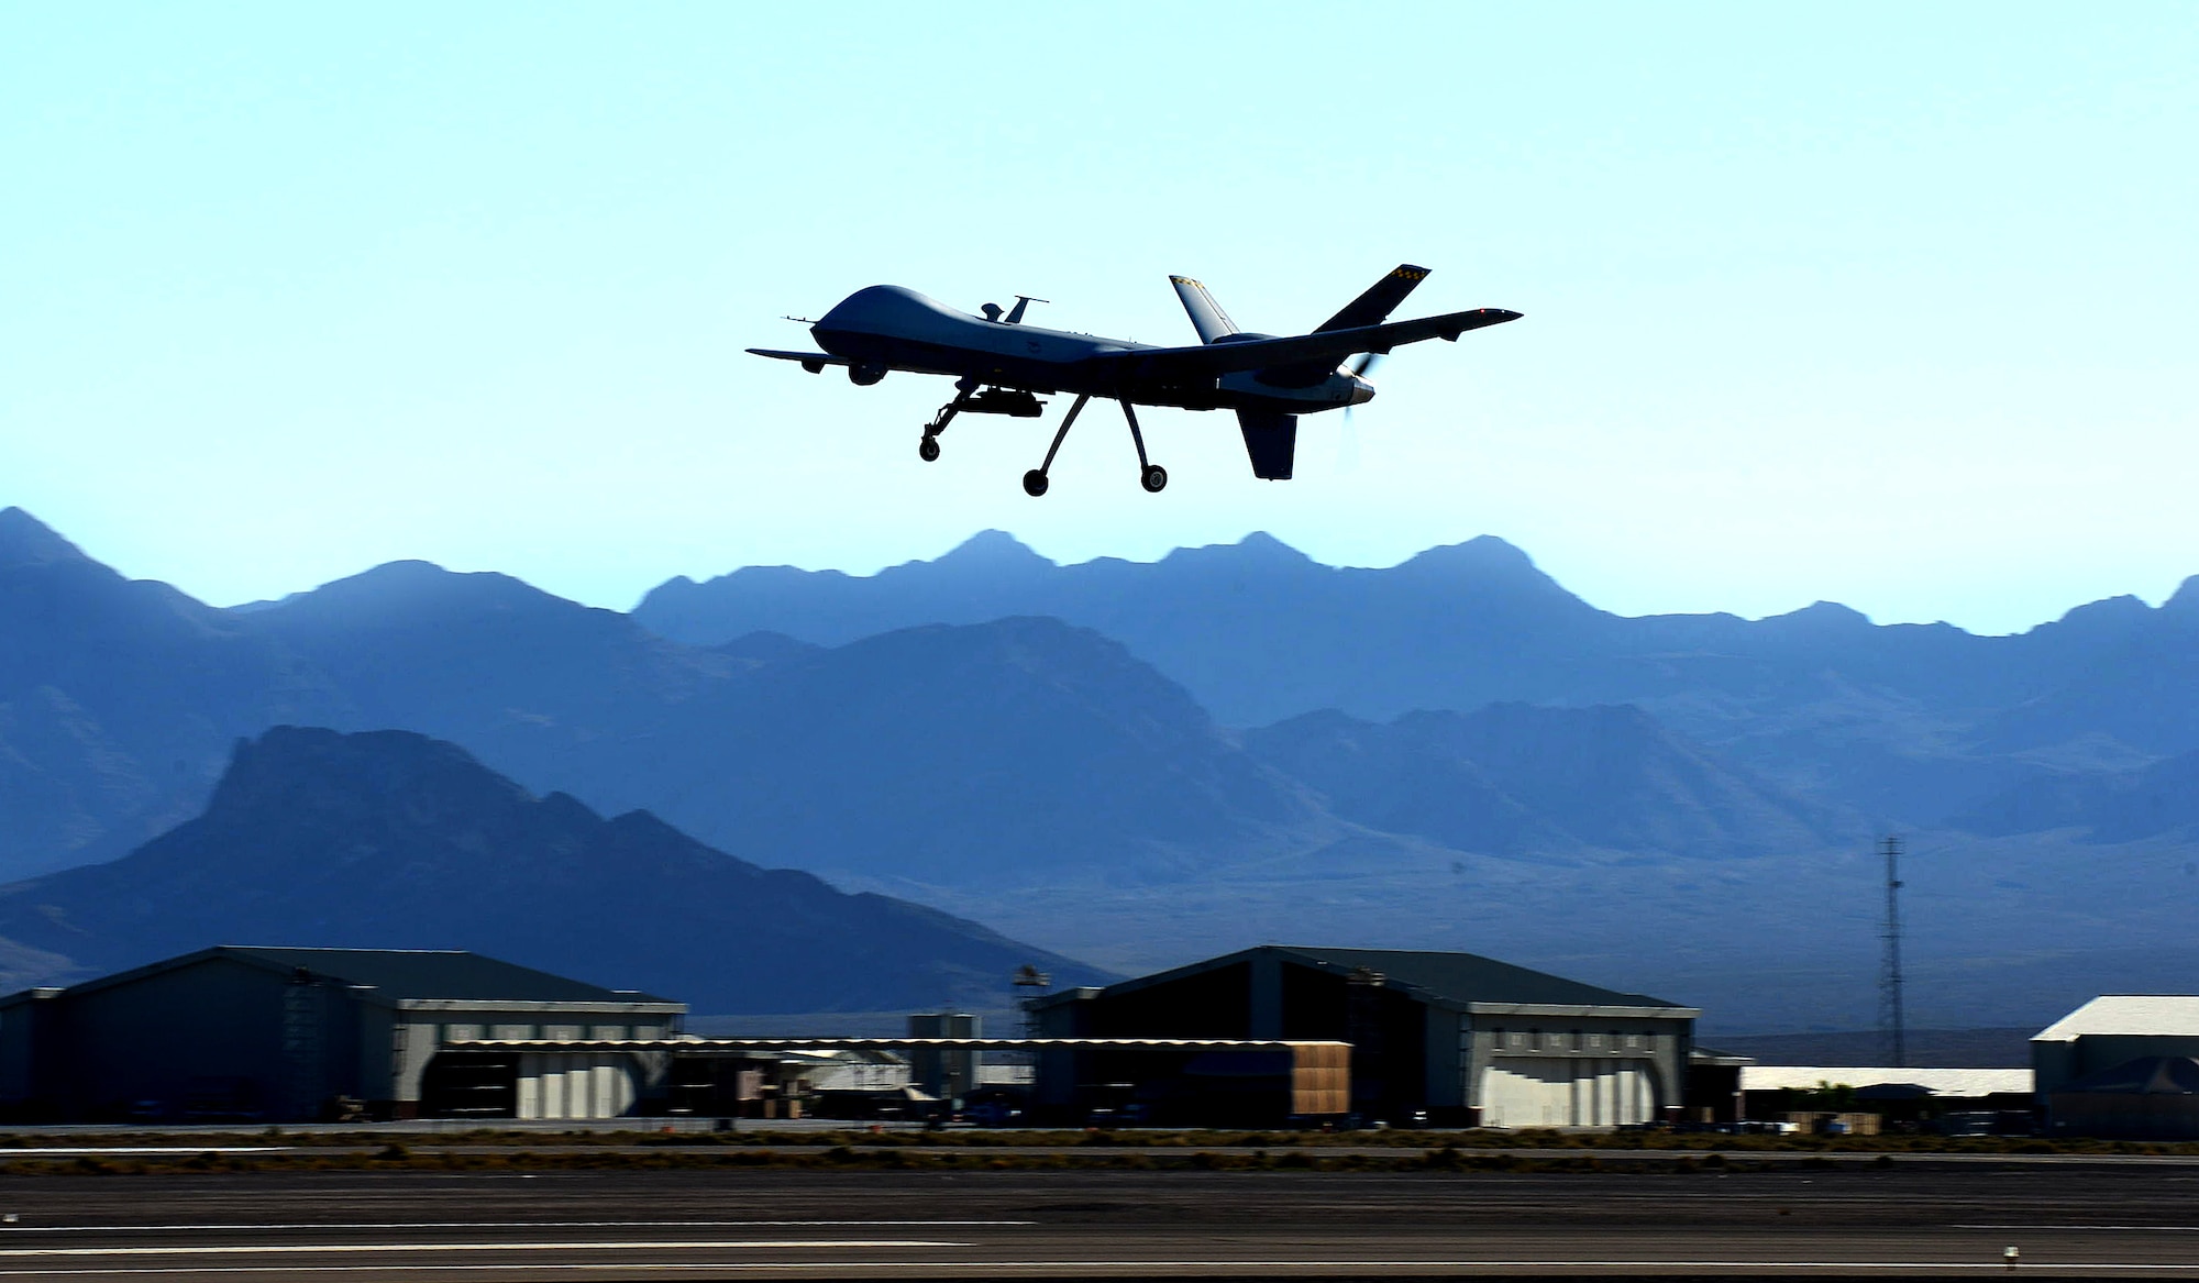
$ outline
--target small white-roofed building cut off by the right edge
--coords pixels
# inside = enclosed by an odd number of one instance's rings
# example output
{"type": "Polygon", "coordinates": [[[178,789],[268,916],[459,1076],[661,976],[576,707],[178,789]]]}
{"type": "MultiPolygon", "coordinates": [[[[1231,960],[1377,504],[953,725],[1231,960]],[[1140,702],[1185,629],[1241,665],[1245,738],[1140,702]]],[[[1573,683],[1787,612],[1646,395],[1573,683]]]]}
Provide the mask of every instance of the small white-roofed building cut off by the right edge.
{"type": "Polygon", "coordinates": [[[2199,995],[2093,997],[2032,1037],[2049,1136],[2199,1140],[2199,995]]]}

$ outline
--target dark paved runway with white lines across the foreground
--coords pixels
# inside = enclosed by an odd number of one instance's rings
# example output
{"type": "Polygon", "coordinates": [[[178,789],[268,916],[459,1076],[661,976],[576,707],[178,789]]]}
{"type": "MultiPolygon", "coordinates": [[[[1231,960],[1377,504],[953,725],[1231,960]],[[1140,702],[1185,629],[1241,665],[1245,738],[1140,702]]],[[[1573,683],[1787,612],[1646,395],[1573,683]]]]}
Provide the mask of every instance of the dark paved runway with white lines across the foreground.
{"type": "Polygon", "coordinates": [[[574,1171],[0,1182],[0,1279],[2199,1279],[2199,1173],[574,1171]]]}

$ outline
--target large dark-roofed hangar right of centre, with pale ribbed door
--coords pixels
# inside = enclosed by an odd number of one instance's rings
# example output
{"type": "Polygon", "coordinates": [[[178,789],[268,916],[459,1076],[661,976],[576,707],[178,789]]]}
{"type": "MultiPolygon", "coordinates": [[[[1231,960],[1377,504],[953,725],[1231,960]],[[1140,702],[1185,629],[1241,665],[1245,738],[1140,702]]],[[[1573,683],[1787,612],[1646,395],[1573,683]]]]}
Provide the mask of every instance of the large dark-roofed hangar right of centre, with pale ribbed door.
{"type": "MultiPolygon", "coordinates": [[[[1432,1125],[1616,1127],[1676,1118],[1698,1008],[1616,993],[1476,953],[1262,945],[1106,989],[1031,1002],[1038,1037],[1333,1039],[1350,1044],[1350,1112],[1432,1125]]],[[[1165,1092],[1108,1050],[1042,1050],[1038,1105],[1108,1101],[1170,1112],[1165,1092]],[[1143,1085],[1139,1085],[1143,1083],[1143,1085]]]]}

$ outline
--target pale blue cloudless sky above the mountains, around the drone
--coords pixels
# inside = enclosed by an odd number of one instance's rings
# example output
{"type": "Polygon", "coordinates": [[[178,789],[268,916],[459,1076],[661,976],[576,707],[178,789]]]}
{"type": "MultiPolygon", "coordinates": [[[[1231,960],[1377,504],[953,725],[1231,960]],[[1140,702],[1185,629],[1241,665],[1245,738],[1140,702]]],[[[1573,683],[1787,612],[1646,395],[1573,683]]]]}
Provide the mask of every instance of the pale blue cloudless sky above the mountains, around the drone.
{"type": "Polygon", "coordinates": [[[213,602],[394,558],[629,606],[1003,527],[1500,534],[1590,602],[2023,628],[2199,573],[2199,7],[0,2],[0,505],[213,602]],[[743,356],[895,281],[1190,341],[1396,261],[1300,479],[743,356]]]}

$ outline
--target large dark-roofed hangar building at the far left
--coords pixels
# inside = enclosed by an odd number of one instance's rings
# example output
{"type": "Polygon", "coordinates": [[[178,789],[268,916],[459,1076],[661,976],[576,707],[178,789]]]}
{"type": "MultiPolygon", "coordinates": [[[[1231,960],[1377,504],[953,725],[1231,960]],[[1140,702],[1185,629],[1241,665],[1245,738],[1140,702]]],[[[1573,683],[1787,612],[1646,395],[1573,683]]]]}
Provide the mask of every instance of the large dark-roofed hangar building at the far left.
{"type": "Polygon", "coordinates": [[[222,945],[0,997],[15,1118],[611,1118],[662,1057],[453,1050],[475,1039],[662,1039],[686,1004],[462,951],[222,945]],[[528,1072],[528,1070],[534,1072],[528,1072]]]}

